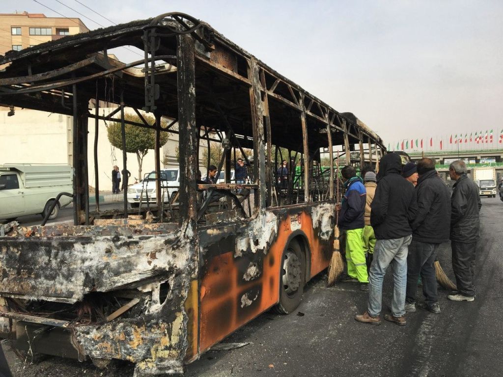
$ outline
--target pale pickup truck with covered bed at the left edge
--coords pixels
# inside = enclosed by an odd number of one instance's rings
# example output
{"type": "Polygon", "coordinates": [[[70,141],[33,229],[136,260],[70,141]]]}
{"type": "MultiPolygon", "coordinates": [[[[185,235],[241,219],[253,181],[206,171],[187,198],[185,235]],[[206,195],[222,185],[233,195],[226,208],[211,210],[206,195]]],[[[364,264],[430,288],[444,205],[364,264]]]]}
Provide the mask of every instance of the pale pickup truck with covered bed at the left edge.
{"type": "MultiPolygon", "coordinates": [[[[59,193],[72,193],[72,176],[73,168],[66,164],[0,165],[0,221],[35,214],[45,217],[59,193]]],[[[49,219],[70,201],[62,196],[49,219]]]]}

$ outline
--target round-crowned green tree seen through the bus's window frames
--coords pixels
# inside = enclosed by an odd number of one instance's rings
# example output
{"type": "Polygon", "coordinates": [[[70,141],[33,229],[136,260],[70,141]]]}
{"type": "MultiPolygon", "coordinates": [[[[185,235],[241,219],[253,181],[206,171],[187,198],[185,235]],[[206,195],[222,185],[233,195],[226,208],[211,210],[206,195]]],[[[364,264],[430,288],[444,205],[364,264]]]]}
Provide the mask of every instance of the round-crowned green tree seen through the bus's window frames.
{"type": "MultiPolygon", "coordinates": [[[[145,118],[145,121],[149,125],[153,125],[155,123],[155,118],[151,115],[144,115],[143,118],[145,118]]],[[[124,114],[124,119],[130,122],[143,123],[136,114],[126,113],[124,114]]],[[[165,126],[164,122],[162,122],[162,126],[165,126]]],[[[110,144],[122,150],[121,124],[118,122],[109,124],[107,135],[110,144]]],[[[126,124],[125,135],[126,152],[136,154],[136,158],[138,159],[138,177],[141,179],[141,165],[143,163],[143,157],[145,157],[149,149],[155,148],[155,130],[126,124]]],[[[166,144],[168,136],[167,132],[161,131],[160,146],[166,144]]]]}

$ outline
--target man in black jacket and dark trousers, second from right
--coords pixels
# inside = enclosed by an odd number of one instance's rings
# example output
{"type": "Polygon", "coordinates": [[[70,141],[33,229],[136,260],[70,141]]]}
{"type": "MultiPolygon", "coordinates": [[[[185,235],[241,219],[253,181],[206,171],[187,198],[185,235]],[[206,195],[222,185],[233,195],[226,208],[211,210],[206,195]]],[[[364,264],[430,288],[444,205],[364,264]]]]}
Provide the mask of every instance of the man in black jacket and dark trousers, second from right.
{"type": "Polygon", "coordinates": [[[425,302],[418,306],[439,314],[434,263],[439,245],[449,241],[451,193],[435,170],[435,160],[431,158],[419,160],[417,173],[419,178],[409,212],[412,242],[407,255],[405,312],[415,312],[417,278],[421,273],[425,302]]]}

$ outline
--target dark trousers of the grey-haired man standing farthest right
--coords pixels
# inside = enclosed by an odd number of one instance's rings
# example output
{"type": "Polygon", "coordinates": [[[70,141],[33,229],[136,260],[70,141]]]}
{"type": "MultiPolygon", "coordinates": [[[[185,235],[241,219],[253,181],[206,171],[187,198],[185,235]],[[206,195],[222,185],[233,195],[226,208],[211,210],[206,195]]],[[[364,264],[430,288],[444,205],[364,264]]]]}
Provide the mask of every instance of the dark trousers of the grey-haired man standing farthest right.
{"type": "Polygon", "coordinates": [[[467,297],[475,296],[475,246],[476,242],[463,243],[451,241],[452,269],[456,276],[458,292],[467,297]]]}

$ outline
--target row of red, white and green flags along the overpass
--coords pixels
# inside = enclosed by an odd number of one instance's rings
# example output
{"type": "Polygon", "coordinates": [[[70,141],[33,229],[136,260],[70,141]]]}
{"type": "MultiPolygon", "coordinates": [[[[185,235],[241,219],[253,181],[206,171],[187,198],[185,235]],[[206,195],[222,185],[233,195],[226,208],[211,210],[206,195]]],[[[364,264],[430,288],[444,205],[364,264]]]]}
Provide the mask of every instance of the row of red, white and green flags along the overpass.
{"type": "MultiPolygon", "coordinates": [[[[413,150],[413,149],[432,149],[439,148],[440,150],[447,149],[449,146],[453,147],[456,145],[457,148],[461,144],[494,144],[495,138],[493,135],[493,130],[486,130],[485,133],[482,131],[470,132],[470,134],[451,134],[447,136],[444,141],[444,137],[430,137],[422,139],[402,139],[401,141],[395,143],[388,143],[388,150],[413,150]]],[[[499,131],[498,143],[503,146],[503,129],[499,131]]],[[[488,145],[489,146],[489,145],[488,145]]],[[[494,146],[494,145],[493,145],[494,146]]]]}

